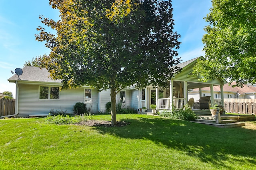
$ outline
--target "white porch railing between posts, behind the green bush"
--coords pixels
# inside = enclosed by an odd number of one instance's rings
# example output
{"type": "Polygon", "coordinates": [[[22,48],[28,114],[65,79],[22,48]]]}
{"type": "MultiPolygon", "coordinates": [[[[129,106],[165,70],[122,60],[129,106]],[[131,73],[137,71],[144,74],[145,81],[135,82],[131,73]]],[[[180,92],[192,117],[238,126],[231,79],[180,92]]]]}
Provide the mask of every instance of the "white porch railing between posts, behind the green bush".
{"type": "MultiPolygon", "coordinates": [[[[173,98],[172,105],[175,109],[181,109],[184,107],[184,98],[173,98]]],[[[170,98],[158,99],[158,109],[170,109],[170,98]]]]}

